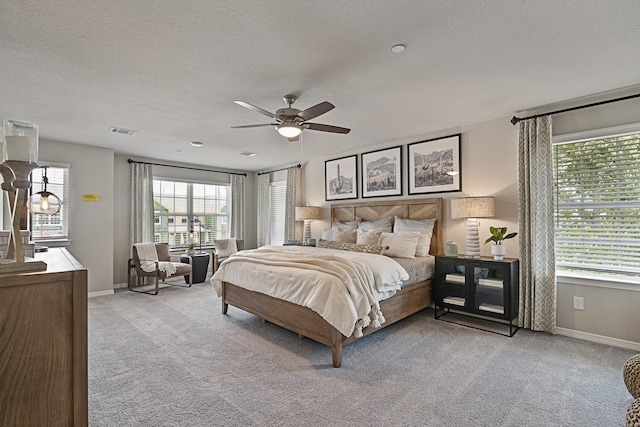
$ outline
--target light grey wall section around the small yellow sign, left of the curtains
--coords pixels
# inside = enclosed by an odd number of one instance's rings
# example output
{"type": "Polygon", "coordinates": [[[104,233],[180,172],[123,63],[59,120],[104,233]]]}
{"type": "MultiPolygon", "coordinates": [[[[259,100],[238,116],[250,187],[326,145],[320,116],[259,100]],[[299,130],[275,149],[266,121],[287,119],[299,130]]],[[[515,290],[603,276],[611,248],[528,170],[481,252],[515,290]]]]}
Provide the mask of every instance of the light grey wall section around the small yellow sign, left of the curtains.
{"type": "Polygon", "coordinates": [[[89,270],[89,292],[113,289],[113,150],[40,140],[41,161],[69,163],[69,252],[89,270]],[[83,202],[82,194],[99,194],[83,202]]]}

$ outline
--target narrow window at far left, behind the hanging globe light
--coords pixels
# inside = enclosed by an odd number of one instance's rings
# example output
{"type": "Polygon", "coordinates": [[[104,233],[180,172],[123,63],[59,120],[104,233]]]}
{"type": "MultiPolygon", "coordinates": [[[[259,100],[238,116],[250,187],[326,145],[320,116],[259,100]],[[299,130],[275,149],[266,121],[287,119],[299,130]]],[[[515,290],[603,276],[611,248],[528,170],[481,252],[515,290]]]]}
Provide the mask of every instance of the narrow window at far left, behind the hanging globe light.
{"type": "MultiPolygon", "coordinates": [[[[30,215],[31,239],[34,242],[53,242],[69,239],[69,168],[70,165],[51,164],[47,166],[47,191],[61,200],[60,210],[55,215],[30,215]]],[[[42,177],[44,168],[36,168],[31,172],[31,194],[44,190],[42,177]]]]}

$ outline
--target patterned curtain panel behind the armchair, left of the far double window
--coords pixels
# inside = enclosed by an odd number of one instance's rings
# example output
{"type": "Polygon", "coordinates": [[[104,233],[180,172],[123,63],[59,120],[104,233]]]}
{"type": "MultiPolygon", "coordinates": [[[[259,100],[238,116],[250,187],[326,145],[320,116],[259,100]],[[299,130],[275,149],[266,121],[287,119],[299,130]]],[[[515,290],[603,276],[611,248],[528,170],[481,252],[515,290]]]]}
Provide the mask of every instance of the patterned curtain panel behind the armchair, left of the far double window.
{"type": "Polygon", "coordinates": [[[131,163],[130,248],[134,243],[152,243],[153,171],[151,165],[131,163]]]}

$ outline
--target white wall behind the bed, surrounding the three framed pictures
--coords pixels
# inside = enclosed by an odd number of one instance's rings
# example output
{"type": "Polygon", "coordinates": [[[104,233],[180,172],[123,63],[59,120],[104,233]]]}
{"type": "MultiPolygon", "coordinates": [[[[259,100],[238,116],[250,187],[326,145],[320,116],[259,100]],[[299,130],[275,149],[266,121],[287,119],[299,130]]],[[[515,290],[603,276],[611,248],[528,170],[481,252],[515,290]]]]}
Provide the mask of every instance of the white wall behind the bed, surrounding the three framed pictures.
{"type": "MultiPolygon", "coordinates": [[[[489,226],[506,226],[510,231],[517,231],[518,229],[518,131],[517,128],[509,122],[509,118],[506,117],[485,123],[451,129],[448,131],[389,141],[388,143],[384,144],[368,146],[362,150],[336,153],[336,155],[327,159],[307,160],[307,164],[303,168],[303,188],[305,190],[305,200],[303,200],[303,203],[326,208],[322,210],[323,219],[321,221],[312,222],[312,236],[316,239],[319,239],[322,235],[323,228],[329,227],[329,222],[331,219],[331,214],[328,209],[330,203],[325,201],[325,160],[358,154],[358,171],[361,173],[362,168],[360,167],[360,153],[402,145],[404,169],[402,176],[402,189],[403,194],[407,194],[408,187],[406,173],[406,144],[427,139],[444,137],[457,133],[461,133],[462,192],[411,195],[405,196],[403,198],[443,198],[445,200],[444,238],[446,241],[455,241],[458,244],[458,251],[460,253],[463,253],[466,237],[465,223],[464,220],[451,219],[451,204],[449,200],[468,196],[495,197],[495,218],[486,218],[480,221],[481,254],[490,256],[491,249],[489,245],[482,244],[490,235],[489,226]]],[[[361,177],[358,177],[358,185],[358,194],[361,195],[361,177]]],[[[385,197],[384,199],[393,200],[400,198],[401,197],[385,197]]],[[[375,199],[367,198],[360,200],[369,201],[375,199]]],[[[507,256],[517,257],[518,238],[516,237],[515,239],[508,240],[506,243],[507,256]]]]}

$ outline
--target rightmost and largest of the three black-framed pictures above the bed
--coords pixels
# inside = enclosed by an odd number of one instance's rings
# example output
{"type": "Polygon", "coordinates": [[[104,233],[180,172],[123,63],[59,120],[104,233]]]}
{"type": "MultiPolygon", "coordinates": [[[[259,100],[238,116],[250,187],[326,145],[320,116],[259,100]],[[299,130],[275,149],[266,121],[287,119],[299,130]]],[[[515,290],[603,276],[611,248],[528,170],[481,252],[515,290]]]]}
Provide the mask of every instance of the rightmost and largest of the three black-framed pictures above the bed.
{"type": "Polygon", "coordinates": [[[407,146],[409,194],[461,191],[460,134],[407,146]]]}

